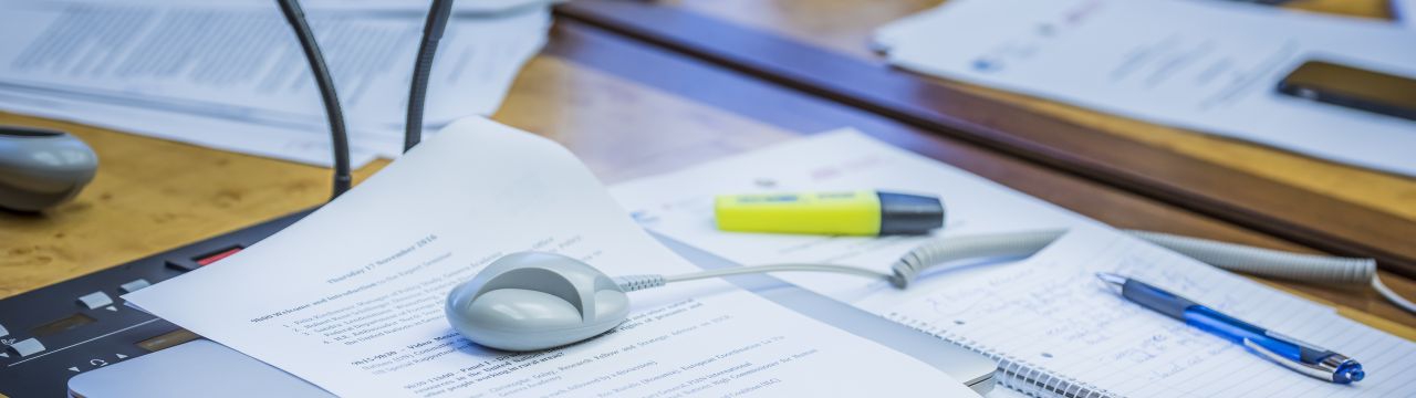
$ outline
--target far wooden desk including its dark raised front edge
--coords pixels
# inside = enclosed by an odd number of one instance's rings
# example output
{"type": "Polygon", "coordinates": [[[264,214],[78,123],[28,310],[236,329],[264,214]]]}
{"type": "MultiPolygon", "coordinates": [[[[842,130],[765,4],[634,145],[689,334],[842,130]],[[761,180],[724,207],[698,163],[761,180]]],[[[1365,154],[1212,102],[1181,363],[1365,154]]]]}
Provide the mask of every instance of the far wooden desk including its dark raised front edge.
{"type": "MultiPolygon", "coordinates": [[[[1416,276],[1416,178],[899,71],[872,31],[939,0],[581,0],[566,17],[1416,276]]],[[[1296,7],[1385,17],[1379,0],[1296,7]]]]}

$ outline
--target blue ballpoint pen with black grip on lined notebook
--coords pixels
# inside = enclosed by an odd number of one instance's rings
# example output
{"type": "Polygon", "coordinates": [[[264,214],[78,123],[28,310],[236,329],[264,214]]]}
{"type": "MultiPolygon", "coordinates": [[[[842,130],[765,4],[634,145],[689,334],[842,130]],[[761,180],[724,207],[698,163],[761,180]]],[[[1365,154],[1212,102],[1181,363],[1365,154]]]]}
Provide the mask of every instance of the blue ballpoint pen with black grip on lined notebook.
{"type": "Polygon", "coordinates": [[[1361,381],[1366,375],[1362,373],[1362,364],[1347,356],[1263,330],[1263,327],[1233,319],[1144,282],[1106,272],[1097,272],[1096,278],[1143,307],[1242,344],[1250,351],[1301,374],[1337,384],[1361,381]]]}

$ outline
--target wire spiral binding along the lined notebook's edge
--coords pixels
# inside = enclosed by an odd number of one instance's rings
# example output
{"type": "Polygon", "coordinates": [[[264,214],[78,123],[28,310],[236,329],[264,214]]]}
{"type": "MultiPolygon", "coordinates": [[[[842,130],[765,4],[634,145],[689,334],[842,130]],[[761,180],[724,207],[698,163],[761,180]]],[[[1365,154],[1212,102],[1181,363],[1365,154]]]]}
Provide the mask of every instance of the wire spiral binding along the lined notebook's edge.
{"type": "Polygon", "coordinates": [[[1007,388],[1017,390],[1029,397],[1063,397],[1063,398],[1114,398],[1116,394],[1110,391],[1097,388],[1089,382],[1083,382],[1070,377],[1058,375],[1048,371],[1042,365],[1032,364],[1029,361],[981,347],[976,341],[957,336],[944,330],[940,330],[929,323],[915,320],[912,317],[891,313],[886,319],[909,326],[910,329],[929,333],[930,336],[939,337],[940,340],[949,341],[950,344],[969,348],[970,351],[980,353],[993,358],[998,363],[997,380],[998,384],[1007,388]]]}

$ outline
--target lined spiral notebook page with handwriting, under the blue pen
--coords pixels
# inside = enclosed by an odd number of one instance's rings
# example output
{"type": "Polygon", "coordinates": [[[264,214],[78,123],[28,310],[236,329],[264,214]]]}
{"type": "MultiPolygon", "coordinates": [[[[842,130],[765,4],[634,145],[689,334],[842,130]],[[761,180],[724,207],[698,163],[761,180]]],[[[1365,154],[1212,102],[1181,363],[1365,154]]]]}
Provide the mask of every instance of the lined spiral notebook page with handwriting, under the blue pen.
{"type": "MultiPolygon", "coordinates": [[[[943,276],[943,275],[942,275],[943,276]]],[[[1100,227],[1078,227],[1024,262],[944,276],[946,289],[891,316],[974,348],[1130,397],[1416,394],[1416,344],[1194,259],[1100,227]],[[1239,319],[1347,354],[1368,378],[1334,385],[1126,302],[1096,279],[1116,272],[1239,319]]]]}

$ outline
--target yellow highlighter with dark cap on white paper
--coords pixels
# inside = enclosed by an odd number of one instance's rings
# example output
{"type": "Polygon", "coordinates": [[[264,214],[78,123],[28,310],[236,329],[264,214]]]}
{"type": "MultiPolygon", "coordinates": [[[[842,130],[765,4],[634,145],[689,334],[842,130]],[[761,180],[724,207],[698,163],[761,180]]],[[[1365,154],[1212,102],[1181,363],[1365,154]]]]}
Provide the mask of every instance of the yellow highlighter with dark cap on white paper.
{"type": "Polygon", "coordinates": [[[882,191],[718,195],[718,229],[820,235],[919,235],[944,227],[937,197],[882,191]]]}

